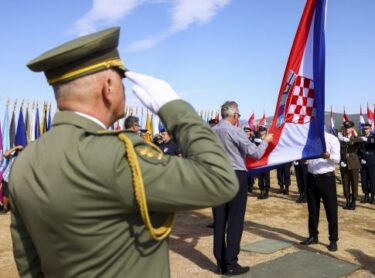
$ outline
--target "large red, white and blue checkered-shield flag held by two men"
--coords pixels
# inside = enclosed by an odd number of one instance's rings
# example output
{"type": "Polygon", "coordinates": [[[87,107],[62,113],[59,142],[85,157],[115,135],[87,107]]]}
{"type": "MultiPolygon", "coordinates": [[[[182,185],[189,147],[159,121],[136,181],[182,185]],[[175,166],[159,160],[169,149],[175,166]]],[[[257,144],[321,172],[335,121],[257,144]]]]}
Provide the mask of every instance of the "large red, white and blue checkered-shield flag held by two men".
{"type": "Polygon", "coordinates": [[[306,2],[269,129],[273,142],[260,160],[247,158],[248,169],[318,158],[325,151],[325,9],[326,0],[306,2]]]}

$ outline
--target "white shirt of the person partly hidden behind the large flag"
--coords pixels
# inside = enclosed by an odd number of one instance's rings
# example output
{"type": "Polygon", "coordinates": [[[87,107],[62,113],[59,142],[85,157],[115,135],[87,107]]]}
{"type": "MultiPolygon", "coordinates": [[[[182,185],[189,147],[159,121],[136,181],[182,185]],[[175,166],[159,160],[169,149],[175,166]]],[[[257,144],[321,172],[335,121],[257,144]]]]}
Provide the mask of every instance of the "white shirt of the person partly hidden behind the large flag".
{"type": "Polygon", "coordinates": [[[330,154],[328,159],[317,158],[307,161],[307,171],[310,174],[321,175],[335,171],[336,165],[340,162],[340,142],[327,132],[324,133],[326,140],[326,151],[330,154]]]}

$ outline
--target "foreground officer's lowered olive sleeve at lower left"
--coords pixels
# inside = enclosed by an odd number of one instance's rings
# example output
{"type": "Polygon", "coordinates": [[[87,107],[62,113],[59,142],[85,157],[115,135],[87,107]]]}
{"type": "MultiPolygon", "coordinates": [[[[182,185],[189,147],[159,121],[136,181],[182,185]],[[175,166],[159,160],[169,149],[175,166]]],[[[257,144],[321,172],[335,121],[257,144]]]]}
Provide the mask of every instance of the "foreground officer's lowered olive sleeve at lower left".
{"type": "Polygon", "coordinates": [[[12,206],[10,231],[20,277],[44,277],[38,253],[17,209],[12,206]]]}

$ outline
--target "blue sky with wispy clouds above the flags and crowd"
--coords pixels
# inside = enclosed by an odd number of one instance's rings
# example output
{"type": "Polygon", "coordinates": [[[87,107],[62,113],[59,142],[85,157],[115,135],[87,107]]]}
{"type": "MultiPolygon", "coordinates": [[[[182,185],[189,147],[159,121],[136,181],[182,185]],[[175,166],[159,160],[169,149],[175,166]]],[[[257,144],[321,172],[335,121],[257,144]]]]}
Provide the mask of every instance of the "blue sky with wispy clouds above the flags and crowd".
{"type": "MultiPolygon", "coordinates": [[[[18,0],[0,2],[0,117],[9,97],[54,103],[31,59],[78,35],[121,27],[127,67],[168,81],[197,109],[226,100],[273,115],[304,0],[18,0]]],[[[375,102],[375,1],[328,0],[326,110],[375,102]]],[[[125,82],[127,103],[137,105],[125,82]]]]}

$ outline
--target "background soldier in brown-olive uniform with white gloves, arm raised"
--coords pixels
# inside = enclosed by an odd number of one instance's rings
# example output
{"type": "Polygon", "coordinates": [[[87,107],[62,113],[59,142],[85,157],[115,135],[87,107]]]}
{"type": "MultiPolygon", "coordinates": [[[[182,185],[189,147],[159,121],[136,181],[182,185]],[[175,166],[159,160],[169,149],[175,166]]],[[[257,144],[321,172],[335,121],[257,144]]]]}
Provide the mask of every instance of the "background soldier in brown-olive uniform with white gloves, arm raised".
{"type": "Polygon", "coordinates": [[[358,150],[362,139],[354,135],[354,123],[345,121],[338,134],[340,141],[340,172],[346,204],[344,209],[355,210],[358,198],[359,163],[358,150]]]}

